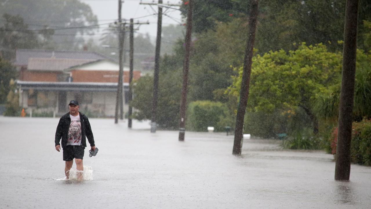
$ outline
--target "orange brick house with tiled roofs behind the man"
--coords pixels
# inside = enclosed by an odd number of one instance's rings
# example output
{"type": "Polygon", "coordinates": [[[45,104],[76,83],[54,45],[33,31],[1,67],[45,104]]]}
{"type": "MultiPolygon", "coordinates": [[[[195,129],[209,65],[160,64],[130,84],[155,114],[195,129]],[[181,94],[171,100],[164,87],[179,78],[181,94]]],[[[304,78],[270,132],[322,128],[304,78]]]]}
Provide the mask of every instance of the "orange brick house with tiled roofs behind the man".
{"type": "MultiPolygon", "coordinates": [[[[68,112],[77,99],[81,112],[111,117],[115,114],[119,65],[116,60],[89,51],[18,49],[19,104],[29,114],[68,112]]],[[[133,78],[140,77],[134,70],[133,78]]],[[[124,112],[128,109],[129,68],[124,67],[124,112]]]]}

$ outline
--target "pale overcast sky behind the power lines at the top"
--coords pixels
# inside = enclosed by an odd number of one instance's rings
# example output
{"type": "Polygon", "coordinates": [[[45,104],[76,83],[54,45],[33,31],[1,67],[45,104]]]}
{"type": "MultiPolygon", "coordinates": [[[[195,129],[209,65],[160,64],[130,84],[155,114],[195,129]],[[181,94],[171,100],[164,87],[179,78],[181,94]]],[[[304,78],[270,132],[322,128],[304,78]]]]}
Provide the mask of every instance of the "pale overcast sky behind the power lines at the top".
{"type": "MultiPolygon", "coordinates": [[[[89,4],[93,13],[98,17],[98,23],[109,23],[114,22],[118,19],[118,0],[80,0],[83,3],[89,4]]],[[[134,18],[134,22],[147,22],[149,25],[139,26],[138,33],[149,33],[151,40],[155,41],[157,34],[157,15],[153,15],[158,12],[157,6],[141,5],[141,0],[124,0],[122,3],[122,19],[134,18]],[[151,8],[152,7],[152,8],[151,8]],[[143,17],[147,16],[147,17],[143,17]],[[141,18],[142,17],[142,18],[141,18]]],[[[158,1],[143,0],[142,3],[157,3],[158,1]]],[[[164,4],[181,4],[180,0],[164,0],[164,4]]],[[[179,7],[174,7],[179,9],[179,7]]],[[[166,15],[162,16],[162,26],[170,24],[179,25],[181,22],[181,15],[179,10],[163,8],[162,12],[166,15]]],[[[129,22],[129,21],[128,21],[129,22]]],[[[101,29],[107,28],[108,25],[102,25],[101,29]]],[[[134,28],[138,28],[135,25],[134,28]]],[[[99,32],[98,32],[99,33],[99,32]]],[[[97,35],[99,38],[99,35],[97,35]]]]}

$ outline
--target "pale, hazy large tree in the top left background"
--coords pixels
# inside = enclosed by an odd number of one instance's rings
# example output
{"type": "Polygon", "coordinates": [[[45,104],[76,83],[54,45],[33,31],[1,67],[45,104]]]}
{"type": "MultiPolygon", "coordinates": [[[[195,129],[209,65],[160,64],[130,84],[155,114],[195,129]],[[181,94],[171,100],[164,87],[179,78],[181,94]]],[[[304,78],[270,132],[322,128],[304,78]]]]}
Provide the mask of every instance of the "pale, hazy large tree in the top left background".
{"type": "Polygon", "coordinates": [[[19,15],[35,32],[47,36],[45,29],[54,29],[53,43],[44,45],[45,48],[70,50],[79,47],[84,40],[79,38],[81,42],[78,42],[75,36],[93,33],[98,28],[98,25],[86,27],[96,25],[98,20],[89,5],[79,0],[0,0],[0,5],[1,16],[5,13],[19,15]]]}

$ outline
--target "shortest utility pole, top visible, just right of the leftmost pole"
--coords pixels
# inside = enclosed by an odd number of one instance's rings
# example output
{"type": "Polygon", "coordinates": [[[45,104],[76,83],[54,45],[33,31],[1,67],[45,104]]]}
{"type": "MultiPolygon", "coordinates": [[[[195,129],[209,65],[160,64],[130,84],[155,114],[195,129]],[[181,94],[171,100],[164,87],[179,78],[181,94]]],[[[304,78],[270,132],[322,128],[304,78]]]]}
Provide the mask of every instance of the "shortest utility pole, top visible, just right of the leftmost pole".
{"type": "Polygon", "coordinates": [[[129,112],[128,112],[128,127],[131,128],[131,115],[133,111],[133,107],[131,106],[131,100],[133,98],[133,90],[132,90],[132,81],[133,81],[133,60],[134,60],[134,20],[130,19],[130,52],[129,52],[129,112]]]}

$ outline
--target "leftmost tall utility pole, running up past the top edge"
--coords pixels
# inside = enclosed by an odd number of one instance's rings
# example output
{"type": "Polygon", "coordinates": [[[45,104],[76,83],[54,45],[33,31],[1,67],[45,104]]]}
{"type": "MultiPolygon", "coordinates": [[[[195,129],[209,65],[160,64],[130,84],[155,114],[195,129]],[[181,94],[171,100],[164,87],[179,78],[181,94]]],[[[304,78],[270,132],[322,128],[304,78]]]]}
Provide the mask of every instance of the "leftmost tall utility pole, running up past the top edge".
{"type": "Polygon", "coordinates": [[[124,43],[124,31],[121,21],[121,0],[118,0],[118,39],[119,39],[119,74],[118,74],[118,84],[117,84],[117,94],[116,94],[116,106],[115,106],[115,123],[118,123],[118,106],[122,106],[122,75],[123,75],[123,62],[122,62],[122,52],[124,43]]]}

